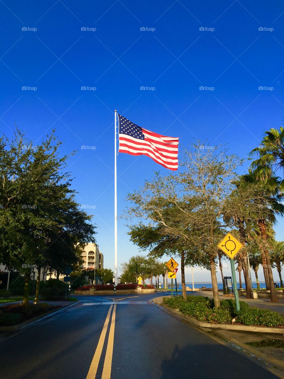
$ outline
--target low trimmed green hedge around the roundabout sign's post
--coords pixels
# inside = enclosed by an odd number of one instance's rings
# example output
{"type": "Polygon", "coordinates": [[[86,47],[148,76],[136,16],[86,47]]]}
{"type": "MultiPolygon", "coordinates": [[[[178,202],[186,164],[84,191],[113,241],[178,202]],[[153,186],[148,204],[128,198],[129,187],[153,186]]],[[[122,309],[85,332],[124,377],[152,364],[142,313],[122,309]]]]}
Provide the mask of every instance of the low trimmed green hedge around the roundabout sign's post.
{"type": "Polygon", "coordinates": [[[182,296],[163,298],[163,303],[170,308],[178,309],[186,316],[208,323],[231,324],[232,319],[236,318],[236,323],[243,325],[284,326],[284,318],[279,313],[267,309],[250,308],[244,301],[240,301],[238,313],[232,299],[221,300],[218,308],[214,307],[213,299],[194,295],[187,296],[187,301],[182,296]]]}

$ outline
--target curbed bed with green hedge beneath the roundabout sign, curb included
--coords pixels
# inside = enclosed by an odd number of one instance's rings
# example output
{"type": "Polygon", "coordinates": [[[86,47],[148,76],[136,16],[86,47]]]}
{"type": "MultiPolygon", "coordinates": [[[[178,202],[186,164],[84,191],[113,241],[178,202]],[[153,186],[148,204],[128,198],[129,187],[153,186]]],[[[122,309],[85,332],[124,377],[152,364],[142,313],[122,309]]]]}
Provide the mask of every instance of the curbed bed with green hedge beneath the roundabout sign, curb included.
{"type": "Polygon", "coordinates": [[[221,300],[220,303],[220,307],[215,308],[213,299],[189,295],[187,301],[182,296],[164,297],[161,305],[206,328],[284,334],[284,318],[277,312],[250,308],[240,301],[240,311],[237,313],[233,299],[221,300]]]}

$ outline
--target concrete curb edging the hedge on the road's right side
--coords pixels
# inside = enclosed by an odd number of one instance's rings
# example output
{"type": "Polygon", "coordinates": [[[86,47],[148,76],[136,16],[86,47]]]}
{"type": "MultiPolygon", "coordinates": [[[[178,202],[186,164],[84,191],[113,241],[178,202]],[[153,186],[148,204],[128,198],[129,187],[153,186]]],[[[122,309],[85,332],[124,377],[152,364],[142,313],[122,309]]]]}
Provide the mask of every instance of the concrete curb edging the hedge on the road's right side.
{"type": "Polygon", "coordinates": [[[190,316],[184,316],[183,313],[179,312],[179,310],[168,307],[165,304],[156,302],[156,298],[152,299],[154,304],[161,306],[169,310],[175,315],[187,320],[189,323],[209,329],[223,329],[223,330],[239,330],[243,332],[258,332],[258,333],[274,333],[274,334],[284,334],[284,329],[274,328],[274,327],[261,327],[261,326],[247,326],[247,325],[232,325],[232,324],[211,324],[204,323],[203,321],[197,321],[195,318],[190,316]]]}

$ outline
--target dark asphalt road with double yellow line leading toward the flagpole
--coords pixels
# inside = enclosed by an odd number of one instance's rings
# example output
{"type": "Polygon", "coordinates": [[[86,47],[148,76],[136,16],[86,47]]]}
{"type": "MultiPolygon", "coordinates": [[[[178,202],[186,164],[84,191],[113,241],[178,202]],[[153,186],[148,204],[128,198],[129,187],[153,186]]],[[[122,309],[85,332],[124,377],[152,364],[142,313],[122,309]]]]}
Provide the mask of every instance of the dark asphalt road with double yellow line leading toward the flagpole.
{"type": "Polygon", "coordinates": [[[80,296],[80,304],[2,340],[1,377],[276,378],[237,349],[150,304],[152,298],[80,296]]]}

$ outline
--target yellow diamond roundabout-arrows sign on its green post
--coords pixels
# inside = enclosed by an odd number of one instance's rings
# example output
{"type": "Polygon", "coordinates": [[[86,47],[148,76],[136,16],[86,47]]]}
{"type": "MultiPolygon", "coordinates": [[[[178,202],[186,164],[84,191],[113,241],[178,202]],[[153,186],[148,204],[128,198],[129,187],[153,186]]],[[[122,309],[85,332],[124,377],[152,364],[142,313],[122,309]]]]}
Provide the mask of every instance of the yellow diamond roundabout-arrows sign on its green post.
{"type": "Polygon", "coordinates": [[[240,302],[239,302],[239,294],[238,294],[238,288],[237,288],[234,257],[236,257],[240,249],[242,249],[243,244],[239,240],[237,240],[237,238],[234,237],[233,234],[227,233],[225,237],[223,238],[223,240],[218,244],[218,247],[230,258],[233,288],[234,288],[234,295],[235,295],[235,301],[236,301],[236,309],[237,309],[237,312],[239,312],[240,302]]]}

